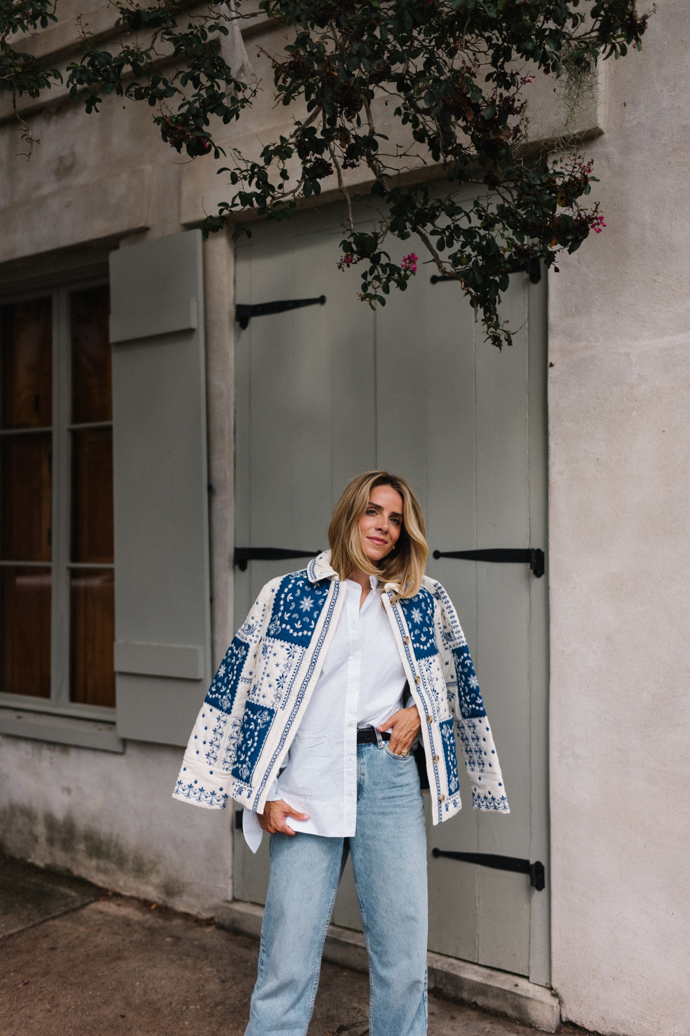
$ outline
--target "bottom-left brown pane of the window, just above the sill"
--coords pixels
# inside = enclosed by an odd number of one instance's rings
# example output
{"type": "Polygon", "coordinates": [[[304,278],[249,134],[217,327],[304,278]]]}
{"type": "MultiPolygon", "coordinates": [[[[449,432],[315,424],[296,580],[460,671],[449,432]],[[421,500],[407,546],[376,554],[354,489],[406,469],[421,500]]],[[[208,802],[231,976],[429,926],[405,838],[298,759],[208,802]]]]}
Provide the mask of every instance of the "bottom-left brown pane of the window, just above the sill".
{"type": "Polygon", "coordinates": [[[0,569],[0,690],[51,696],[50,569],[0,569]]]}

